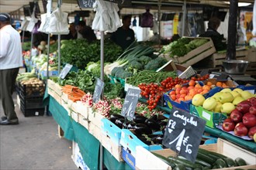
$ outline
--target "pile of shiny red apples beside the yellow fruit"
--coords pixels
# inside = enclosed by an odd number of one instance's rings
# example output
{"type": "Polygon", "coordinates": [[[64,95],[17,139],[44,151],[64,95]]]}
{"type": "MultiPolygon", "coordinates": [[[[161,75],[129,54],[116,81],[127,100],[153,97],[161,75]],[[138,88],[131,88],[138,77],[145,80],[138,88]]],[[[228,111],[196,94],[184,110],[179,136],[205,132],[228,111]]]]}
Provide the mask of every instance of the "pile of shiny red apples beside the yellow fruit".
{"type": "Polygon", "coordinates": [[[256,97],[241,101],[222,124],[223,131],[234,131],[237,136],[254,138],[256,135],[256,97]]]}

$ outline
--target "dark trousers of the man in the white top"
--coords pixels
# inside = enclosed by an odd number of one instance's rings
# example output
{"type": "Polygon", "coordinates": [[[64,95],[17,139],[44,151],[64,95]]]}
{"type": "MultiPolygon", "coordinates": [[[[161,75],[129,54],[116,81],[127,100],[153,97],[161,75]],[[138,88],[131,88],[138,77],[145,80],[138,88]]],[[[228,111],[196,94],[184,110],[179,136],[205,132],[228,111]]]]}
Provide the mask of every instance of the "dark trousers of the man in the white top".
{"type": "Polygon", "coordinates": [[[0,98],[2,100],[4,114],[9,121],[18,119],[12,99],[18,73],[19,68],[0,70],[0,98]]]}

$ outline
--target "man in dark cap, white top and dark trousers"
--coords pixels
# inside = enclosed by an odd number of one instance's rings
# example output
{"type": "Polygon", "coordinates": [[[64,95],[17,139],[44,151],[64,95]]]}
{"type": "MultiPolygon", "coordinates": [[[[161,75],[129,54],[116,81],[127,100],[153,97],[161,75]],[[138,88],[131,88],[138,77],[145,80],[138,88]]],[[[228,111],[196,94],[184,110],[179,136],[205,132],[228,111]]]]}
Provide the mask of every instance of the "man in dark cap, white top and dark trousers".
{"type": "Polygon", "coordinates": [[[1,125],[19,124],[12,93],[20,66],[22,46],[19,32],[10,25],[9,14],[0,13],[0,98],[5,114],[1,117],[1,125]]]}

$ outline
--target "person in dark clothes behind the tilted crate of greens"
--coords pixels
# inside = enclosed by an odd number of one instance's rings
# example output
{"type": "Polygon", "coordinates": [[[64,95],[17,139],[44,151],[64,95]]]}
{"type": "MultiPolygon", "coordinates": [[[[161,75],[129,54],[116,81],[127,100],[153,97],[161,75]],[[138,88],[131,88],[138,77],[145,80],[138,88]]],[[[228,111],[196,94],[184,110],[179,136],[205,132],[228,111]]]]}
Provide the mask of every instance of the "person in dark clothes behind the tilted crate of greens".
{"type": "Polygon", "coordinates": [[[217,32],[217,29],[220,26],[220,19],[212,17],[208,22],[208,29],[206,32],[202,33],[201,37],[210,37],[213,40],[213,44],[217,51],[227,49],[227,44],[223,35],[217,32]]]}

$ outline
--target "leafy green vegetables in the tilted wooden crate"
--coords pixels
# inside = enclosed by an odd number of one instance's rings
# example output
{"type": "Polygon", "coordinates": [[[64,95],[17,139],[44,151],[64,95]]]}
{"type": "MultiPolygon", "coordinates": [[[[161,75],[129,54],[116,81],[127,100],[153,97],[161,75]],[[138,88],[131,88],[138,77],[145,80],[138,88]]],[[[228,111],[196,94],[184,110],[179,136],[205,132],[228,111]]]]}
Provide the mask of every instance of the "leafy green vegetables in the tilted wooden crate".
{"type": "Polygon", "coordinates": [[[167,46],[163,46],[161,50],[162,53],[168,53],[169,56],[185,56],[185,54],[189,53],[193,49],[202,46],[209,39],[189,39],[189,38],[180,38],[177,41],[171,42],[167,46]]]}

